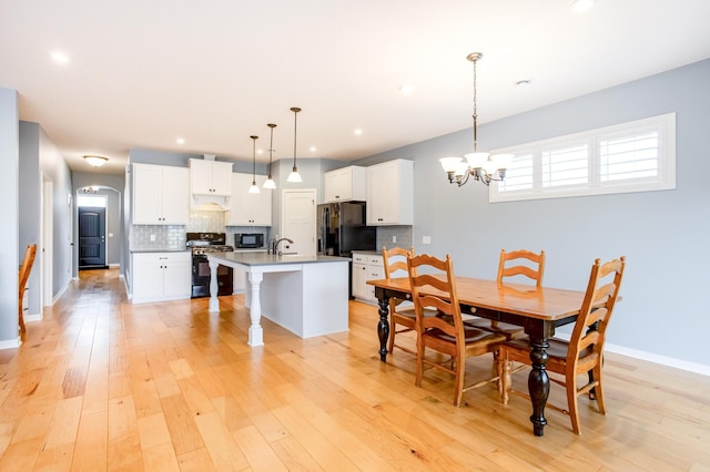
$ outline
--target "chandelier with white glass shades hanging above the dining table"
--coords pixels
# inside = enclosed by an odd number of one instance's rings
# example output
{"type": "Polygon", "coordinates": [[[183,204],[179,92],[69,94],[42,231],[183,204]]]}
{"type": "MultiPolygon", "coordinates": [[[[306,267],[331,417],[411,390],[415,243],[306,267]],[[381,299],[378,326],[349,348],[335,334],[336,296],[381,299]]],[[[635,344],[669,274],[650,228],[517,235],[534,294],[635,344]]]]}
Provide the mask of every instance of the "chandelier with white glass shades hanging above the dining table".
{"type": "Polygon", "coordinates": [[[439,160],[442,167],[446,171],[449,184],[457,184],[459,187],[468,182],[469,177],[490,185],[491,181],[503,181],[506,176],[513,154],[489,154],[478,152],[478,103],[476,90],[476,63],[484,54],[471,52],[466,57],[474,63],[474,152],[464,157],[443,157],[439,160]]]}

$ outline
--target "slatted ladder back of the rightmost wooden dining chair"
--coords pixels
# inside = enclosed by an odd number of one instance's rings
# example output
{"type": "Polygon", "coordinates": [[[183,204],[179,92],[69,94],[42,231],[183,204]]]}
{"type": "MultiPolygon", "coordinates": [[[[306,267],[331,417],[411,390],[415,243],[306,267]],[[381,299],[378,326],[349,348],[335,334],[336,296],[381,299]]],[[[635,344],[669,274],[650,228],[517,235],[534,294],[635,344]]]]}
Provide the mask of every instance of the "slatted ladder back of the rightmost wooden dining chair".
{"type": "Polygon", "coordinates": [[[619,288],[626,267],[626,257],[601,264],[595,260],[587,285],[587,293],[581,310],[575,324],[569,349],[567,351],[568,368],[576,369],[580,355],[600,356],[606,340],[607,326],[613,314],[619,297],[619,288]],[[607,281],[611,278],[610,281],[607,281]]]}

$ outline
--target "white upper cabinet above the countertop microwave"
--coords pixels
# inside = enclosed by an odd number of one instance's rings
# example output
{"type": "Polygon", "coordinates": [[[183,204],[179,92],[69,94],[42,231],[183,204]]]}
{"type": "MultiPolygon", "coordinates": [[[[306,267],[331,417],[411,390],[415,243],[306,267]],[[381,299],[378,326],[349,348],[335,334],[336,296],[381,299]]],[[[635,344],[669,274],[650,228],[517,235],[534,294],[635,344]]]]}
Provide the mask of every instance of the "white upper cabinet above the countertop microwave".
{"type": "Polygon", "coordinates": [[[226,226],[271,226],[272,191],[264,188],[265,175],[256,176],[260,193],[250,194],[252,174],[232,174],[232,197],[226,212],[226,226]]]}

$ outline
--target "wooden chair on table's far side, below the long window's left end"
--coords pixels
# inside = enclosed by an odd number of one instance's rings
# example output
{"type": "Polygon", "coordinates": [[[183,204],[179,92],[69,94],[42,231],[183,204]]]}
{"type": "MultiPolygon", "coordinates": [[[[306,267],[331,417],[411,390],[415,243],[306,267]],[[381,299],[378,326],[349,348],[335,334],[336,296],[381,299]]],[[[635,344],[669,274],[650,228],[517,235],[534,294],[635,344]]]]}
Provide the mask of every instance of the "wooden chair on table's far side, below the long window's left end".
{"type": "MultiPolygon", "coordinates": [[[[518,249],[506,253],[500,249],[498,259],[498,277],[499,285],[506,281],[534,281],[536,287],[542,286],[542,275],[545,274],[545,252],[539,254],[526,249],[518,249]],[[507,280],[506,280],[507,279],[507,280]],[[513,279],[513,280],[510,280],[513,279]]],[[[474,318],[466,321],[469,326],[489,330],[504,335],[508,340],[524,336],[524,329],[520,326],[507,322],[489,320],[485,318],[474,318]]]]}

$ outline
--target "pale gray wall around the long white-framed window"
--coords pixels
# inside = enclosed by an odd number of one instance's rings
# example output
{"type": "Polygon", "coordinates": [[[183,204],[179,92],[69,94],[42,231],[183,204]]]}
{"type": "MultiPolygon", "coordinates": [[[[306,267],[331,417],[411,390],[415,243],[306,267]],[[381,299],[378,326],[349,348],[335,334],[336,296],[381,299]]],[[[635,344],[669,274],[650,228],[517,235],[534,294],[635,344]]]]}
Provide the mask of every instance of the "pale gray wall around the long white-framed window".
{"type": "MultiPolygon", "coordinates": [[[[489,204],[487,187],[449,185],[438,163],[470,152],[471,131],[356,162],[415,161],[415,249],[450,254],[462,276],[496,276],[500,248],[545,249],[545,284],[584,289],[595,258],[628,258],[609,342],[710,367],[710,60],[479,126],[494,150],[677,113],[674,191],[489,204]],[[423,245],[422,236],[432,236],[423,245]]],[[[710,371],[710,370],[707,370],[710,371]]]]}

